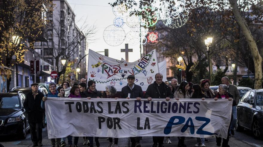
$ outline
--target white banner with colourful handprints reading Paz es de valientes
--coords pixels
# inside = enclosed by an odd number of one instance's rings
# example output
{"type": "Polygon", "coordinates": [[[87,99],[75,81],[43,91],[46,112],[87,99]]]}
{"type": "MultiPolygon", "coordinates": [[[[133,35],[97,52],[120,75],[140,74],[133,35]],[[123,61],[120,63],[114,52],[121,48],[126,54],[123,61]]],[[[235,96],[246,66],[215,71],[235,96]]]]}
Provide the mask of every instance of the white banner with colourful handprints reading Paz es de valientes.
{"type": "Polygon", "coordinates": [[[121,88],[127,85],[128,75],[134,75],[136,84],[146,91],[149,84],[154,82],[155,74],[159,72],[156,59],[156,50],[135,62],[112,59],[89,50],[88,79],[96,82],[97,90],[105,91],[105,86],[111,85],[121,91],[121,88]]]}

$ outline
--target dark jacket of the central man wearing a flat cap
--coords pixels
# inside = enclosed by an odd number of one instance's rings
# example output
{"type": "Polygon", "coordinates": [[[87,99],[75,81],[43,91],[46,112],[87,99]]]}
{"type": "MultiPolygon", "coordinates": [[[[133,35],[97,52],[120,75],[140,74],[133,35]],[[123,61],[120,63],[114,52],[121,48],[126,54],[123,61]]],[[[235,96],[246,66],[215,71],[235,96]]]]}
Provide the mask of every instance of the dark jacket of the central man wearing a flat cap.
{"type": "Polygon", "coordinates": [[[128,94],[131,94],[130,98],[131,99],[136,99],[137,97],[140,97],[143,99],[143,90],[142,87],[139,85],[134,84],[134,87],[131,88],[126,85],[121,89],[121,97],[126,98],[128,97],[128,94]]]}

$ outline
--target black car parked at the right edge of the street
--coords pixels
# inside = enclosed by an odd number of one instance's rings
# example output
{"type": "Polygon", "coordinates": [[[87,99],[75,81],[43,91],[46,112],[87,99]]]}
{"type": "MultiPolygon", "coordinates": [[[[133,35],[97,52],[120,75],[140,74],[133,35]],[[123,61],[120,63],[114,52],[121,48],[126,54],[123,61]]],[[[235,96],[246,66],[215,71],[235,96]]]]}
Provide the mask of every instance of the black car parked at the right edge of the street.
{"type": "Polygon", "coordinates": [[[244,128],[251,130],[255,138],[263,134],[263,89],[247,91],[237,105],[236,130],[244,128]]]}

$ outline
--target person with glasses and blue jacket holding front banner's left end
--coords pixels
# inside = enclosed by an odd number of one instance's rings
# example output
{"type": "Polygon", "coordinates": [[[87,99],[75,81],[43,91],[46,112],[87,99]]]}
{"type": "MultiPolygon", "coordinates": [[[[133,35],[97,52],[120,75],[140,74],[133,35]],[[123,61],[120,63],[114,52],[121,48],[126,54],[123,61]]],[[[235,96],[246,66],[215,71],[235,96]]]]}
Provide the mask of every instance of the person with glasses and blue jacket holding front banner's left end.
{"type": "MultiPolygon", "coordinates": [[[[45,109],[45,100],[48,99],[48,97],[59,97],[59,91],[56,90],[56,83],[51,82],[48,84],[48,94],[45,95],[45,97],[42,98],[41,102],[41,108],[45,109]]],[[[52,147],[59,147],[60,138],[51,138],[51,146],[52,147]]],[[[65,142],[64,142],[65,143],[65,142]]],[[[61,145],[62,146],[62,145],[61,145]]]]}

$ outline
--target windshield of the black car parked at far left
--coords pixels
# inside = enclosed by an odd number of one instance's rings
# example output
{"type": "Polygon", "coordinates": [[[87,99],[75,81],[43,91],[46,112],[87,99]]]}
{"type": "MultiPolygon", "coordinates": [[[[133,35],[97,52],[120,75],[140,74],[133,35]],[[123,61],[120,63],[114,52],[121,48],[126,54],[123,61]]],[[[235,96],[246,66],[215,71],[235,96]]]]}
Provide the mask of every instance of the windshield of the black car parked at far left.
{"type": "Polygon", "coordinates": [[[0,109],[21,108],[18,96],[0,97],[0,109]]]}

